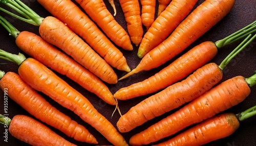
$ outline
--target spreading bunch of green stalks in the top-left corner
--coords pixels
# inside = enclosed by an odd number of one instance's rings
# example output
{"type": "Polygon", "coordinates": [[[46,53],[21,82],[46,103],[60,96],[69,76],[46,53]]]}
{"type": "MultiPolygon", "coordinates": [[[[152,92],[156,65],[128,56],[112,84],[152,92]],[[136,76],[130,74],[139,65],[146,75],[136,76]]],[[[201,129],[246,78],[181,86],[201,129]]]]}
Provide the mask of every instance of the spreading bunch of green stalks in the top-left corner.
{"type": "Polygon", "coordinates": [[[20,20],[23,20],[25,22],[28,22],[35,26],[40,26],[42,20],[44,18],[40,17],[36,12],[34,12],[32,9],[30,9],[27,5],[25,5],[23,2],[19,0],[0,0],[0,3],[12,8],[16,12],[18,12],[20,15],[23,15],[24,17],[20,17],[8,10],[5,10],[4,8],[1,8],[0,10],[10,14],[11,16],[18,18],[20,20]]]}

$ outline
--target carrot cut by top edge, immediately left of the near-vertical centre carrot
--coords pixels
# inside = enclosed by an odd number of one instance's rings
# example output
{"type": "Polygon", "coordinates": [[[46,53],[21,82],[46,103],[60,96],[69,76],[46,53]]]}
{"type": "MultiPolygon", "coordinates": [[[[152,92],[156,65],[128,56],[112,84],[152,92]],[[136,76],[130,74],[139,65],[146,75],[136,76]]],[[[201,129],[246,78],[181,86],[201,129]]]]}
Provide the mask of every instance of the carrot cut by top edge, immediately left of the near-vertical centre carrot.
{"type": "Polygon", "coordinates": [[[115,18],[111,15],[103,2],[76,0],[84,11],[92,18],[93,21],[103,30],[103,32],[118,46],[125,50],[133,50],[129,35],[119,25],[115,18]]]}

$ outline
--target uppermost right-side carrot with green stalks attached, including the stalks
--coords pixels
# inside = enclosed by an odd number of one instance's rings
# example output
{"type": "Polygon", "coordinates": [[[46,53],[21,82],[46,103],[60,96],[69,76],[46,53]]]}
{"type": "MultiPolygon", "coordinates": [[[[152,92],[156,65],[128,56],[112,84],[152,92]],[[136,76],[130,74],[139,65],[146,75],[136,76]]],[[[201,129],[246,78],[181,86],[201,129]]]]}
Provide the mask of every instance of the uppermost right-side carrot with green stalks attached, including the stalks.
{"type": "Polygon", "coordinates": [[[132,99],[140,95],[153,93],[180,81],[214,58],[218,53],[218,49],[221,47],[255,32],[255,24],[256,21],[216,42],[202,42],[191,48],[191,50],[160,70],[154,76],[119,89],[114,94],[114,98],[120,100],[132,99]]]}

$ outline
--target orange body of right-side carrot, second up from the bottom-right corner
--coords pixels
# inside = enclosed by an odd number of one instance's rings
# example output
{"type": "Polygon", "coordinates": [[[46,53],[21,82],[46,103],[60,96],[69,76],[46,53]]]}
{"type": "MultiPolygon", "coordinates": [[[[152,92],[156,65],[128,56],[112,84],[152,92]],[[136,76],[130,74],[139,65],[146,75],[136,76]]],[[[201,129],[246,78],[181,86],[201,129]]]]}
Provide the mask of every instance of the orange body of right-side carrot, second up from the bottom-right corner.
{"type": "Polygon", "coordinates": [[[130,144],[147,144],[173,135],[187,126],[199,123],[241,103],[249,94],[250,88],[244,77],[233,77],[146,130],[135,134],[131,137],[130,144]]]}

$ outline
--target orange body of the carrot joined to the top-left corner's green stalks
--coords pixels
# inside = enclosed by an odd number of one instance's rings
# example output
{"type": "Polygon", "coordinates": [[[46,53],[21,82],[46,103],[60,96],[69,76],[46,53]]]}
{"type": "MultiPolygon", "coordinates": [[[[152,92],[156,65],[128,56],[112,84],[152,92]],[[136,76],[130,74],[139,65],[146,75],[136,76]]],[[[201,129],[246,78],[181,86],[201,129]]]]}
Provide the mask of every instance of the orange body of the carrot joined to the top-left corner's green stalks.
{"type": "Polygon", "coordinates": [[[113,68],[57,18],[46,17],[39,27],[39,34],[44,40],[59,47],[104,82],[117,83],[117,75],[113,68]]]}

